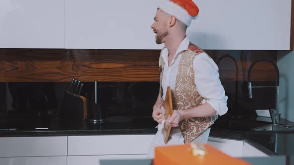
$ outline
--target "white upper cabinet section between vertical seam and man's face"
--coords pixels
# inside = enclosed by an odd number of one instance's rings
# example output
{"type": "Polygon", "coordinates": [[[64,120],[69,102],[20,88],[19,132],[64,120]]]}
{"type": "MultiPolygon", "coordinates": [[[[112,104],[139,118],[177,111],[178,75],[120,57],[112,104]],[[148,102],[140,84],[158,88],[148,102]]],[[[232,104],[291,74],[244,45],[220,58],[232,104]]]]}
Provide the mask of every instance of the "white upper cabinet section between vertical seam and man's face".
{"type": "Polygon", "coordinates": [[[66,0],[65,47],[161,49],[151,29],[158,0],[66,0]]]}

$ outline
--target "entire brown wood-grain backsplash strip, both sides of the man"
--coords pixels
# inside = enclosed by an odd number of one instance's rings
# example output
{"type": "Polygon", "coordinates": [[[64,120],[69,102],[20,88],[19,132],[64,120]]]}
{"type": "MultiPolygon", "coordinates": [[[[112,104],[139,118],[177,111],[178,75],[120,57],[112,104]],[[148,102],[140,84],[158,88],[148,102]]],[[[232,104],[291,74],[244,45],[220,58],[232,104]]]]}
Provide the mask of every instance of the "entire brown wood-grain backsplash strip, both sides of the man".
{"type": "MultiPolygon", "coordinates": [[[[206,50],[219,66],[220,79],[247,81],[251,63],[277,62],[276,51],[206,50]],[[237,65],[237,67],[236,67],[237,65]]],[[[0,49],[0,82],[156,82],[159,50],[0,49]]],[[[252,81],[273,81],[271,64],[258,63],[252,81]]]]}

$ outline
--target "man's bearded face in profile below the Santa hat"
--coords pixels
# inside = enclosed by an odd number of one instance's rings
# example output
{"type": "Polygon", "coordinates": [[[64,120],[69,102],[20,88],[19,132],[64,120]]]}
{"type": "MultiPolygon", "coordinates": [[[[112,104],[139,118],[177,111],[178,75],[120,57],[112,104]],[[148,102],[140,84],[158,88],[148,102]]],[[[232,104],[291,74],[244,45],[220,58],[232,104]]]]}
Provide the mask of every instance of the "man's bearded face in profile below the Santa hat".
{"type": "Polygon", "coordinates": [[[168,35],[167,31],[167,15],[161,9],[157,9],[154,16],[154,23],[151,25],[151,28],[155,35],[156,44],[164,43],[165,37],[168,35]]]}

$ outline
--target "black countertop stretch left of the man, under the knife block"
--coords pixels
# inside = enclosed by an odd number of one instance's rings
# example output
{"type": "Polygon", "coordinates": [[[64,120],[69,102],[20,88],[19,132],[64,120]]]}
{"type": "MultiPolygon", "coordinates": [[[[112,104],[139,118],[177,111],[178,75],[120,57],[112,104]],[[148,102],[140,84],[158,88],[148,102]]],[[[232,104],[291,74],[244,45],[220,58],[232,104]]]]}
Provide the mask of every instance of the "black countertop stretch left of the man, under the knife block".
{"type": "Polygon", "coordinates": [[[55,119],[1,119],[0,137],[155,134],[149,117],[113,117],[102,123],[55,119]]]}

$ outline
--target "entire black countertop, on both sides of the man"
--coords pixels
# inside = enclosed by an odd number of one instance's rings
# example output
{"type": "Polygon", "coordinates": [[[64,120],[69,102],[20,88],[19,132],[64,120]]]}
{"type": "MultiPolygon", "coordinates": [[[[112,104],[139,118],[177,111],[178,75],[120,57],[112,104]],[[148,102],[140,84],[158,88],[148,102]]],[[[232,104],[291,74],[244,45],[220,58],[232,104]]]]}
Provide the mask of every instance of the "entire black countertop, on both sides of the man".
{"type": "MultiPolygon", "coordinates": [[[[243,140],[269,155],[294,155],[294,131],[251,130],[266,124],[254,118],[221,119],[212,127],[210,137],[243,140]]],[[[150,117],[112,117],[96,124],[57,118],[0,119],[0,137],[155,134],[155,126],[150,117]]]]}

